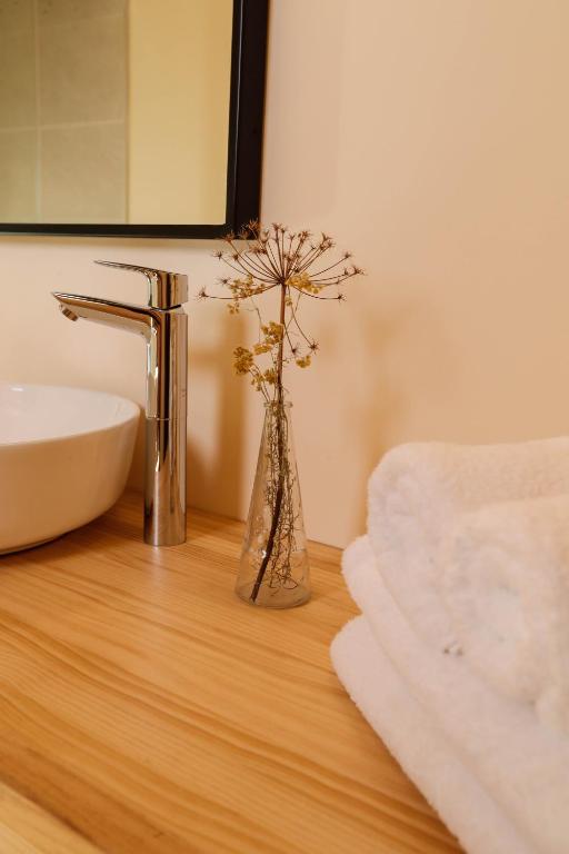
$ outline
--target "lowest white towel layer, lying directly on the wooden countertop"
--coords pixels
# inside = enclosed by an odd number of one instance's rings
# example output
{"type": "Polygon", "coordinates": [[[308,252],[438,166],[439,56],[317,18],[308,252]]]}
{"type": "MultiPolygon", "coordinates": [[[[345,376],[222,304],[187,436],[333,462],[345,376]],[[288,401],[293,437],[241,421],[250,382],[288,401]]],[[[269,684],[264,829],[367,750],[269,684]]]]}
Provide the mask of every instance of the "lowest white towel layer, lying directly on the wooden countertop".
{"type": "Polygon", "coordinates": [[[470,854],[533,854],[455,755],[376,643],[365,617],[337,635],[332,664],[363,717],[470,854]]]}

